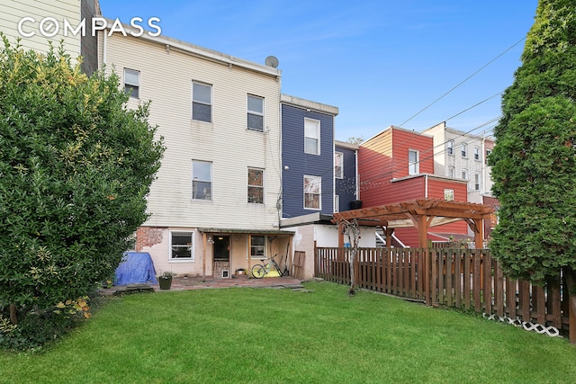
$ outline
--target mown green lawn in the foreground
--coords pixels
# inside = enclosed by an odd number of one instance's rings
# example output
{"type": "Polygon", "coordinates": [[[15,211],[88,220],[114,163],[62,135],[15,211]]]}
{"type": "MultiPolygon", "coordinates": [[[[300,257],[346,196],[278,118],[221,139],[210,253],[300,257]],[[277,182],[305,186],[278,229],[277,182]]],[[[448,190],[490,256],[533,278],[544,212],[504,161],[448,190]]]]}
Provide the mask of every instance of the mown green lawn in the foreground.
{"type": "Polygon", "coordinates": [[[563,383],[576,346],[450,310],[308,282],[111,299],[0,383],[563,383]]]}

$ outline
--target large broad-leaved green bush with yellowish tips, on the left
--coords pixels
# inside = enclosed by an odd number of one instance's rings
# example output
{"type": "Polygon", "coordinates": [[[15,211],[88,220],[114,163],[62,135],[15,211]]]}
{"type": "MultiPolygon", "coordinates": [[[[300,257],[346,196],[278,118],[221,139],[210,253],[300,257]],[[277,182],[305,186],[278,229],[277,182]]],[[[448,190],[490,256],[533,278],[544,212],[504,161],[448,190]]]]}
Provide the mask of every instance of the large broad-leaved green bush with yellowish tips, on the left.
{"type": "Polygon", "coordinates": [[[0,342],[3,324],[4,339],[25,338],[39,318],[85,307],[78,299],[113,276],[147,219],[164,147],[148,105],[127,100],[118,76],[87,77],[61,48],[40,55],[4,38],[0,342]]]}

